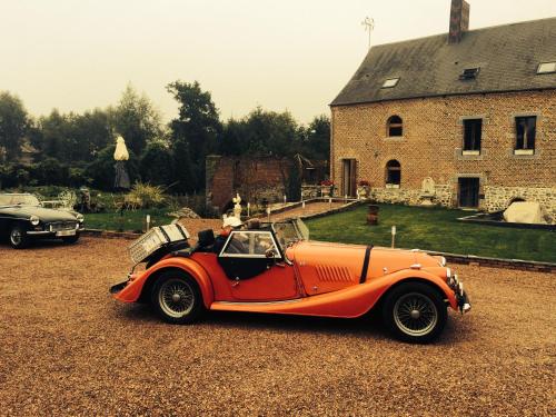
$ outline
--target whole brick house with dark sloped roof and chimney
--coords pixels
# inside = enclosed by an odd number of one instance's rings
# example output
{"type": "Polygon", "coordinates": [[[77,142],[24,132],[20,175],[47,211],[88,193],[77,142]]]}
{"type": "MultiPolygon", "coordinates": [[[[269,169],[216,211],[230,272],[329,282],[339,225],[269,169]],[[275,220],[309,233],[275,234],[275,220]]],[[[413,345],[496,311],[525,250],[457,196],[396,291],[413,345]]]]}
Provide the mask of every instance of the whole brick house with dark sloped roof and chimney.
{"type": "Polygon", "coordinates": [[[556,18],[373,47],[330,105],[330,176],[378,201],[505,209],[538,201],[556,220],[556,18]],[[427,178],[429,190],[424,190],[427,178]]]}

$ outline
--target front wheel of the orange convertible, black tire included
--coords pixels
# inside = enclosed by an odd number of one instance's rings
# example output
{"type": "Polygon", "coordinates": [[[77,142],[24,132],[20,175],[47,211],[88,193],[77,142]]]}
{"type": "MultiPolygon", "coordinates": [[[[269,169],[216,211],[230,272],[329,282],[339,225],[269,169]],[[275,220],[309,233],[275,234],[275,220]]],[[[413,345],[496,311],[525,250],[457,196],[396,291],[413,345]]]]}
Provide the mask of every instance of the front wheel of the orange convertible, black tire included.
{"type": "Polygon", "coordinates": [[[383,320],[397,339],[428,344],[444,329],[447,306],[438,290],[421,282],[407,282],[387,294],[383,320]]]}

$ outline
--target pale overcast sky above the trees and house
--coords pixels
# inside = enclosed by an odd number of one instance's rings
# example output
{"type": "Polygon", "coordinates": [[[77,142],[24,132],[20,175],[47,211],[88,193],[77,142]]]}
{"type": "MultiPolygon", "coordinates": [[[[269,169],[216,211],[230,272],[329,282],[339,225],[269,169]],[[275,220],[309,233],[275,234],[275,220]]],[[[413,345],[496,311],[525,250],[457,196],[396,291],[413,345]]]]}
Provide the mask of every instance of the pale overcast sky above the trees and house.
{"type": "MultiPolygon", "coordinates": [[[[470,29],[556,17],[556,0],[467,0],[470,29]]],[[[371,43],[448,31],[450,0],[0,0],[0,91],[30,115],[116,105],[128,83],[169,121],[172,81],[199,81],[222,120],[257,106],[308,123],[371,43]]]]}

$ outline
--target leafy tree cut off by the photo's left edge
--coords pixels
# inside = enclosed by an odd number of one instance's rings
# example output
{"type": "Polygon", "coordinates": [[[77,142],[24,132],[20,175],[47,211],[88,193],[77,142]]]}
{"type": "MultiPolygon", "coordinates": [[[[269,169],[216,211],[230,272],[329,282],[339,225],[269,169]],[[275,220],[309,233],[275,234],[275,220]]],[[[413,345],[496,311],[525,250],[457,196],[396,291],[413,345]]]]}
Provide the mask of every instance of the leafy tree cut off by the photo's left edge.
{"type": "Polygon", "coordinates": [[[1,91],[0,148],[3,148],[8,161],[20,156],[21,141],[27,133],[28,127],[29,119],[21,100],[8,91],[1,91]]]}

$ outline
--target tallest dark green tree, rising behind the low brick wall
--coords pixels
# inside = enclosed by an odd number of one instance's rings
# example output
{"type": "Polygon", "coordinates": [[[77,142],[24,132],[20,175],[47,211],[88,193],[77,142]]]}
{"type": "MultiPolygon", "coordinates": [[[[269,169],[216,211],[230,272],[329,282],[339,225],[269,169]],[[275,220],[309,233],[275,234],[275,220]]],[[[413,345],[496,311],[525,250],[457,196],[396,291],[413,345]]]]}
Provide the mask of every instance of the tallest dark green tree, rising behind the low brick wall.
{"type": "Polygon", "coordinates": [[[167,90],[180,105],[178,118],[170,122],[177,188],[181,191],[202,189],[205,159],[215,151],[222,130],[218,109],[210,92],[202,91],[197,81],[176,81],[169,83],[167,90]]]}

